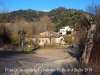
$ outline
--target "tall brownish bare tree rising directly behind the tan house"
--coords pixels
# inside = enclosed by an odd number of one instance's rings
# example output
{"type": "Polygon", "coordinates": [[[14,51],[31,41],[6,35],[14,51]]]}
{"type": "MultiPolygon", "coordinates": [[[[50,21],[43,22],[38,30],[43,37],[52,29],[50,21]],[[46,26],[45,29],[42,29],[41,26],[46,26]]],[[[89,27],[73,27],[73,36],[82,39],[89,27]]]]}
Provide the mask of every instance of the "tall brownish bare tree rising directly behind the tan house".
{"type": "Polygon", "coordinates": [[[40,21],[33,23],[32,26],[34,36],[44,31],[54,31],[54,24],[47,15],[42,16],[40,21]]]}

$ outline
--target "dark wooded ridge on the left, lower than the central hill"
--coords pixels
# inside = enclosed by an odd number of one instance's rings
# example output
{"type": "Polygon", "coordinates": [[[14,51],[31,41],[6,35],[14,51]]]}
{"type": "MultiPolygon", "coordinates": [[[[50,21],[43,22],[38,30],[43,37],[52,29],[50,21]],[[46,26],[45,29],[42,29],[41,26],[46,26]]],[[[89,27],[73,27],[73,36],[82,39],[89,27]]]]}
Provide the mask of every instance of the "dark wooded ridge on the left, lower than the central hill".
{"type": "Polygon", "coordinates": [[[24,18],[27,22],[36,22],[44,12],[35,10],[18,10],[0,14],[0,22],[16,22],[16,19],[24,18]]]}

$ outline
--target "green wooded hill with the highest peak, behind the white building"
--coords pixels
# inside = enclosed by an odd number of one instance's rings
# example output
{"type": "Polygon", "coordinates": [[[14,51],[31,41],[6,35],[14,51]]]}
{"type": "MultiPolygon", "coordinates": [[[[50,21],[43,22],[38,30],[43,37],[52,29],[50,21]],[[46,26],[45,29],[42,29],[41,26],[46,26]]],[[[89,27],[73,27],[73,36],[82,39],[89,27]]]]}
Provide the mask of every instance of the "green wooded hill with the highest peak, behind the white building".
{"type": "Polygon", "coordinates": [[[51,10],[48,15],[52,22],[55,24],[55,30],[58,31],[64,26],[70,26],[72,28],[80,21],[81,17],[84,15],[84,11],[75,9],[66,9],[64,7],[59,7],[57,9],[51,10]]]}

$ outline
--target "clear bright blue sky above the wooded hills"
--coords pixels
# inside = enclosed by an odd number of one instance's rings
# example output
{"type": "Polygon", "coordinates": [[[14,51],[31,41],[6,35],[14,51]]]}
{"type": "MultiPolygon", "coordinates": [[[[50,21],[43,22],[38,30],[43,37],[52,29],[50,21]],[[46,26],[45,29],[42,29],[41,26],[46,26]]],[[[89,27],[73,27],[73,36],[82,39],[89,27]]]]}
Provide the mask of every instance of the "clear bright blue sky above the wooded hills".
{"type": "Polygon", "coordinates": [[[9,11],[16,10],[39,10],[50,11],[58,7],[65,7],[68,9],[84,10],[86,6],[91,3],[100,3],[100,0],[2,0],[4,8],[9,11]]]}

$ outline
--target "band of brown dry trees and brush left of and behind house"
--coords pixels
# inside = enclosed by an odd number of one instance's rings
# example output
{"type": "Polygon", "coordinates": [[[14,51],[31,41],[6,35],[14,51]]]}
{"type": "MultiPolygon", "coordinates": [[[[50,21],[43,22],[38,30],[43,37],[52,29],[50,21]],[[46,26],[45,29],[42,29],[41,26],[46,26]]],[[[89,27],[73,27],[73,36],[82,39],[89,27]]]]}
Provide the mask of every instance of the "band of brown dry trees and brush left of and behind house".
{"type": "Polygon", "coordinates": [[[38,22],[27,22],[23,18],[16,18],[14,23],[0,24],[0,46],[4,46],[5,49],[19,46],[19,31],[25,31],[25,38],[32,38],[47,30],[54,31],[53,23],[47,15],[42,16],[38,22]]]}

